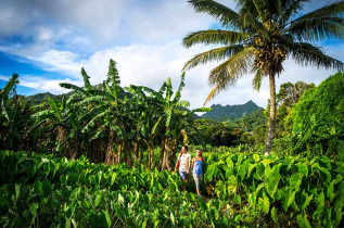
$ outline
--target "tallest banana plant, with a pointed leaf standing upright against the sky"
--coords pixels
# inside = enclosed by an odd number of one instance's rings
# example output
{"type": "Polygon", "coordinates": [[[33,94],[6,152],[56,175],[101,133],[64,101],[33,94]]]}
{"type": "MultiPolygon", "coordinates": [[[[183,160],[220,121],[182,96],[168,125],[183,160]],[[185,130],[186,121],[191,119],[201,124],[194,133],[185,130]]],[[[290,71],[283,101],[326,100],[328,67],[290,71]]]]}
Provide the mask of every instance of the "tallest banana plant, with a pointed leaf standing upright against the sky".
{"type": "Polygon", "coordinates": [[[110,60],[107,79],[103,81],[102,90],[91,92],[91,96],[85,98],[80,103],[95,104],[80,119],[87,121],[84,132],[90,131],[97,126],[91,140],[107,136],[105,163],[122,162],[122,152],[125,150],[127,163],[131,165],[128,140],[132,138],[135,130],[126,127],[126,123],[130,123],[128,118],[130,101],[122,98],[120,80],[115,61],[110,60]],[[114,150],[114,143],[116,143],[116,150],[114,150]]]}

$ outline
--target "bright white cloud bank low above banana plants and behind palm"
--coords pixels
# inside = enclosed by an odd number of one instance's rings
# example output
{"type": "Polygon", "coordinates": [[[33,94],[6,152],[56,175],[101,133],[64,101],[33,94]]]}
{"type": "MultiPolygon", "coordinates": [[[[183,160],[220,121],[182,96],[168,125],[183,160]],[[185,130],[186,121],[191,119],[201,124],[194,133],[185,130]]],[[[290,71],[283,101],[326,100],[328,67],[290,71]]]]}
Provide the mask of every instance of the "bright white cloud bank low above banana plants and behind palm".
{"type": "MultiPolygon", "coordinates": [[[[101,50],[87,60],[79,61],[78,58],[68,52],[51,51],[44,53],[36,60],[40,60],[46,64],[53,62],[49,71],[65,72],[69,71],[73,81],[79,81],[80,67],[84,66],[86,72],[91,76],[93,85],[102,83],[106,78],[109,60],[114,59],[117,62],[122,86],[142,85],[153,89],[158,89],[161,85],[171,77],[174,88],[176,89],[180,81],[180,69],[183,64],[195,53],[207,50],[208,47],[198,46],[191,49],[184,49],[179,40],[167,45],[132,45],[128,47],[117,47],[101,50]]],[[[198,66],[187,72],[186,87],[182,91],[182,99],[190,101],[191,107],[203,105],[207,94],[212,88],[207,85],[207,76],[209,71],[216,66],[216,63],[198,66]]],[[[314,67],[296,66],[292,61],[286,61],[285,71],[277,78],[277,92],[281,84],[286,81],[296,83],[303,80],[306,83],[319,84],[326,79],[334,71],[317,69],[314,67]]],[[[265,78],[260,88],[260,92],[252,88],[252,75],[245,75],[238,80],[237,85],[229,87],[228,90],[220,92],[207,105],[213,103],[225,104],[242,104],[249,100],[253,100],[259,106],[266,107],[269,98],[269,83],[265,78]]],[[[38,80],[38,78],[37,78],[38,80]]],[[[42,80],[40,86],[29,86],[36,89],[53,88],[59,90],[58,80],[42,80]],[[51,86],[52,85],[52,86],[51,86]]],[[[69,83],[73,83],[69,80],[69,83]]],[[[29,85],[28,83],[22,84],[29,85]]]]}

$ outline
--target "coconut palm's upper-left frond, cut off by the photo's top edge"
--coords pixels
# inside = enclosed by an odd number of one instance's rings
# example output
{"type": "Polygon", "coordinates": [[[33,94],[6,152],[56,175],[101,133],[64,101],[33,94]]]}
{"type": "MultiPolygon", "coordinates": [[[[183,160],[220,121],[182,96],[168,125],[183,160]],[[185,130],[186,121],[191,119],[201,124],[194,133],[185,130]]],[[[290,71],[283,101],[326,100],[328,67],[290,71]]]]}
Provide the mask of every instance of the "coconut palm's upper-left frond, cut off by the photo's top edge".
{"type": "Polygon", "coordinates": [[[222,26],[237,29],[240,28],[240,15],[226,5],[213,0],[190,0],[188,2],[195,9],[196,12],[209,14],[215,20],[219,21],[222,26]]]}

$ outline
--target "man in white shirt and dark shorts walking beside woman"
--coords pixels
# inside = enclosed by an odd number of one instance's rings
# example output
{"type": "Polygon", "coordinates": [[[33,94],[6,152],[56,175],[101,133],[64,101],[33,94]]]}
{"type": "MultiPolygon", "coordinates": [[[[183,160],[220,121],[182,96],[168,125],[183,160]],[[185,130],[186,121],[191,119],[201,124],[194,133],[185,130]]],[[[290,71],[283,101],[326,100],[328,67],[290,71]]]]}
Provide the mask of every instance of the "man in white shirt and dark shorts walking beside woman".
{"type": "Polygon", "coordinates": [[[177,168],[179,167],[179,175],[182,181],[184,182],[184,186],[183,186],[184,191],[187,189],[187,181],[188,181],[188,176],[190,173],[191,160],[192,160],[192,156],[190,153],[188,153],[188,145],[182,145],[181,153],[179,153],[178,155],[175,172],[177,172],[177,168]]]}

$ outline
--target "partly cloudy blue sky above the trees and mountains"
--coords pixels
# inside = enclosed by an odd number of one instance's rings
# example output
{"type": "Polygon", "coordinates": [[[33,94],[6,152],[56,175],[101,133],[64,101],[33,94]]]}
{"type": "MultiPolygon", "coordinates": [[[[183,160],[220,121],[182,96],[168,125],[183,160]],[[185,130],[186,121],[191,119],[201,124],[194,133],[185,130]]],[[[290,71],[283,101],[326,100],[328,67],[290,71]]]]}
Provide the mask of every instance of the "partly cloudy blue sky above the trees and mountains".
{"type": "MultiPolygon", "coordinates": [[[[232,0],[219,2],[234,8],[232,0]]],[[[311,1],[305,11],[331,1],[311,1]]],[[[123,86],[144,85],[157,89],[171,77],[179,83],[181,67],[192,55],[211,47],[186,49],[181,39],[188,33],[218,27],[205,14],[195,13],[184,0],[2,0],[0,2],[0,87],[12,73],[20,74],[18,93],[62,93],[59,83],[82,85],[84,66],[92,84],[106,77],[110,59],[117,62],[123,86]]],[[[339,40],[318,43],[344,61],[339,40]]],[[[182,92],[191,107],[202,106],[211,91],[207,85],[211,63],[187,72],[182,92]]],[[[286,61],[277,88],[286,81],[320,84],[334,71],[301,67],[286,61]]],[[[218,94],[213,103],[241,104],[253,100],[265,107],[269,97],[265,79],[260,92],[252,89],[252,75],[218,94]]]]}

